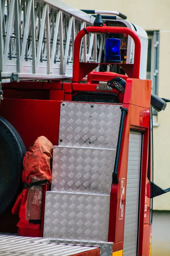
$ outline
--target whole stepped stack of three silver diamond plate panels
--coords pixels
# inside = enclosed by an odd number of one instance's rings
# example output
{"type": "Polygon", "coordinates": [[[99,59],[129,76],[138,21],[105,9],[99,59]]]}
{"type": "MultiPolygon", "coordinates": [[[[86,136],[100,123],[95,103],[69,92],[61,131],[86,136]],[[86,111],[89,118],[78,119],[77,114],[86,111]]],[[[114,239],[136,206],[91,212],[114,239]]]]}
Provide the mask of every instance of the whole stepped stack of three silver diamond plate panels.
{"type": "Polygon", "coordinates": [[[108,241],[119,104],[62,102],[44,237],[108,241]]]}

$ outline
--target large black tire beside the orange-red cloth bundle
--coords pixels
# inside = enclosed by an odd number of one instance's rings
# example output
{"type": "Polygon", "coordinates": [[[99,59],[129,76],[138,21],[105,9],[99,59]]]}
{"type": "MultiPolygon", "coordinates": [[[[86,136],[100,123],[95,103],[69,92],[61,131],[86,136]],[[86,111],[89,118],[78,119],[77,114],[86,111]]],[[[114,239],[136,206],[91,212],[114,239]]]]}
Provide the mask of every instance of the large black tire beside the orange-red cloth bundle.
{"type": "Polygon", "coordinates": [[[0,214],[14,201],[21,184],[26,148],[16,129],[0,117],[0,214]]]}

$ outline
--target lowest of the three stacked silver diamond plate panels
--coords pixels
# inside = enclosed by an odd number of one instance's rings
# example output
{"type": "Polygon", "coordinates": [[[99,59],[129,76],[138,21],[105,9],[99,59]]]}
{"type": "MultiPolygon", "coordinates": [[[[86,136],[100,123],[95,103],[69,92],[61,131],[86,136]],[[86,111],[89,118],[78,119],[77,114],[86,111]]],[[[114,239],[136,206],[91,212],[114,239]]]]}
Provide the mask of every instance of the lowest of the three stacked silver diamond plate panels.
{"type": "Polygon", "coordinates": [[[44,236],[108,241],[110,196],[46,192],[44,236]]]}

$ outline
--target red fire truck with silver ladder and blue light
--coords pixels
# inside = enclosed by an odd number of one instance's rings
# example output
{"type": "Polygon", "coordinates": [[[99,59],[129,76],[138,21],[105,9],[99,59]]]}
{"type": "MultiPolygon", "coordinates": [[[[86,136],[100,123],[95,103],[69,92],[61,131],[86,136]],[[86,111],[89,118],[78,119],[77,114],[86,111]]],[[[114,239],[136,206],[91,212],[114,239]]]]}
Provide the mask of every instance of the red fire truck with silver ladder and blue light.
{"type": "Polygon", "coordinates": [[[153,198],[170,190],[153,183],[151,106],[166,100],[146,80],[147,34],[126,18],[1,1],[1,255],[151,255],[153,198]],[[53,145],[51,184],[23,186],[23,157],[41,136],[53,145]],[[17,229],[11,209],[36,188],[40,219],[17,229]]]}

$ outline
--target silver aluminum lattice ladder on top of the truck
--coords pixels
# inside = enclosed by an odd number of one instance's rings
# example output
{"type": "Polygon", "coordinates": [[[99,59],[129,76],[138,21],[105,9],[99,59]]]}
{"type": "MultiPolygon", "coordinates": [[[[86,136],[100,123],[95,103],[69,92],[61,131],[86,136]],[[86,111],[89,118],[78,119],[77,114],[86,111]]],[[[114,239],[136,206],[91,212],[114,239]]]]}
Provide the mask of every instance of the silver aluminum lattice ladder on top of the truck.
{"type": "MultiPolygon", "coordinates": [[[[74,39],[93,22],[94,17],[60,0],[1,0],[1,77],[71,78],[74,39]]],[[[94,34],[81,43],[80,61],[89,59],[97,62],[94,34]]]]}

